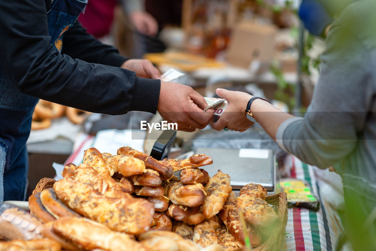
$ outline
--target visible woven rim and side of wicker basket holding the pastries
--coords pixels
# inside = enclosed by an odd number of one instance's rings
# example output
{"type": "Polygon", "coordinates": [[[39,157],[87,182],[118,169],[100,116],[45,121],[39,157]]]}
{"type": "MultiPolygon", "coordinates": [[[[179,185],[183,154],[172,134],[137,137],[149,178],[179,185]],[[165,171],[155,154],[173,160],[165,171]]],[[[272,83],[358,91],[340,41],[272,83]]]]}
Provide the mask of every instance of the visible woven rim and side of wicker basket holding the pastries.
{"type": "MultiPolygon", "coordinates": [[[[56,181],[50,178],[42,178],[35,187],[34,193],[40,193],[43,189],[52,187],[56,181]]],[[[287,195],[284,192],[276,195],[267,196],[265,199],[269,204],[276,206],[276,212],[281,218],[276,228],[273,229],[271,237],[267,239],[261,246],[253,248],[253,251],[274,251],[279,250],[280,243],[285,236],[287,224],[287,195]]],[[[243,248],[238,249],[244,250],[243,248]]]]}

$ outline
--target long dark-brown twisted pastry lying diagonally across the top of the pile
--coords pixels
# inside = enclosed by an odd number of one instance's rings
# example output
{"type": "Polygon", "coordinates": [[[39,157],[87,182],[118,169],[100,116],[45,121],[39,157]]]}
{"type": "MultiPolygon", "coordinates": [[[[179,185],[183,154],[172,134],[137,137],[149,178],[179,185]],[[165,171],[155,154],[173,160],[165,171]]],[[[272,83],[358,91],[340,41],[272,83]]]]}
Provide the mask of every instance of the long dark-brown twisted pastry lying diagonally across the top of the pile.
{"type": "Polygon", "coordinates": [[[123,146],[119,148],[117,154],[132,155],[144,161],[146,167],[159,172],[163,180],[169,180],[174,175],[172,167],[166,161],[156,160],[155,158],[143,152],[136,151],[135,149],[130,148],[129,146],[123,146]]]}

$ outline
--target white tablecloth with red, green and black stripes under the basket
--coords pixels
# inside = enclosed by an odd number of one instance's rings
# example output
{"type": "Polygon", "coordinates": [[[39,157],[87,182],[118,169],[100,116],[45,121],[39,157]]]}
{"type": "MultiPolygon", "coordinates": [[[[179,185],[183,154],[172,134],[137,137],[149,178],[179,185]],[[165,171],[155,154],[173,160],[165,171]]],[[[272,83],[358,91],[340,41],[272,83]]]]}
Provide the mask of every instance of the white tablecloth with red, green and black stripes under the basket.
{"type": "MultiPolygon", "coordinates": [[[[79,135],[75,141],[73,153],[65,164],[82,163],[83,151],[94,145],[94,137],[86,134],[79,135]]],[[[288,208],[286,235],[282,240],[281,251],[332,251],[337,236],[343,230],[337,210],[332,209],[328,201],[320,195],[315,168],[293,157],[291,178],[308,182],[313,194],[320,199],[320,210],[315,212],[305,208],[288,208]]]]}

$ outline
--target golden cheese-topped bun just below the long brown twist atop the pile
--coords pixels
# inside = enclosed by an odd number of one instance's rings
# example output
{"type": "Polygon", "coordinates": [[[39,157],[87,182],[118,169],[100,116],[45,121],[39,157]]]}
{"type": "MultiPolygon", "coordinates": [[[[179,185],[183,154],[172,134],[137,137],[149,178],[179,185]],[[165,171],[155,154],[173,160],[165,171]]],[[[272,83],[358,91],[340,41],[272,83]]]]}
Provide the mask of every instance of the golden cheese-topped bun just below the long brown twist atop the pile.
{"type": "Polygon", "coordinates": [[[131,155],[111,155],[102,152],[103,160],[124,177],[141,174],[145,171],[145,163],[131,155]]]}

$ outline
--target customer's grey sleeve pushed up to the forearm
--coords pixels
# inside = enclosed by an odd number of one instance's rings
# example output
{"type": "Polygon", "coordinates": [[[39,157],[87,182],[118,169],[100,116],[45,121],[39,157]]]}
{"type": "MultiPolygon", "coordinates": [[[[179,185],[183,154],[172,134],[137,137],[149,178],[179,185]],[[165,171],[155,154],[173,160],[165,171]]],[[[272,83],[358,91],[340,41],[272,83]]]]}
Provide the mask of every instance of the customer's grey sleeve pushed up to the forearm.
{"type": "Polygon", "coordinates": [[[304,119],[282,123],[277,143],[305,163],[326,168],[357,145],[374,93],[371,59],[361,41],[334,25],[321,56],[320,77],[304,119]]]}

